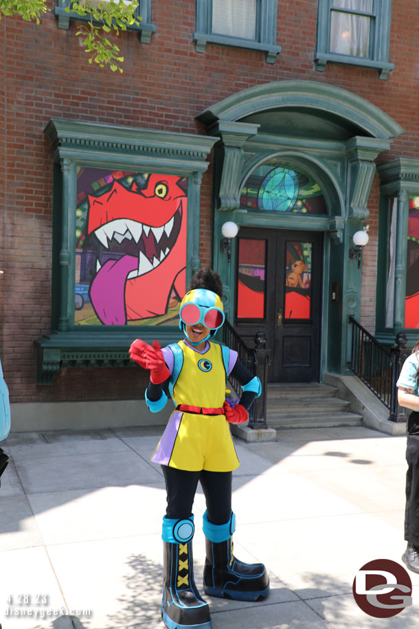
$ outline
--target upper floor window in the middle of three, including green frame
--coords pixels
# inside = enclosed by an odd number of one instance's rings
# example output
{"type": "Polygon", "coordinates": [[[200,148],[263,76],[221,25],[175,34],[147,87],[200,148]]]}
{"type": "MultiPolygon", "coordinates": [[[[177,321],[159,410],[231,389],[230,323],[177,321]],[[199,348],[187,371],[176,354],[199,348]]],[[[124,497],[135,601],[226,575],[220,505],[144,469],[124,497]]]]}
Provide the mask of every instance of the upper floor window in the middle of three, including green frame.
{"type": "Polygon", "coordinates": [[[278,0],[196,0],[197,52],[207,43],[249,48],[267,53],[275,63],[281,52],[276,45],[278,0]]]}

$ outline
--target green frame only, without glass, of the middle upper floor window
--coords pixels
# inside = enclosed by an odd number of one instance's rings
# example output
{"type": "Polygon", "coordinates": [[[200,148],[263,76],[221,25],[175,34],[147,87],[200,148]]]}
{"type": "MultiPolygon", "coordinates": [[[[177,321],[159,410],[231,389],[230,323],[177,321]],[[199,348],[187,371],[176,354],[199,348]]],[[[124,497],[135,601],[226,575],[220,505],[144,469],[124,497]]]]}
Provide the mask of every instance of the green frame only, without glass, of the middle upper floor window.
{"type": "MultiPolygon", "coordinates": [[[[228,0],[225,0],[226,2],[228,0]]],[[[275,63],[281,47],[276,45],[278,0],[257,0],[254,40],[212,32],[212,0],[196,0],[196,52],[205,52],[207,43],[259,50],[267,53],[267,63],[275,63]]]]}

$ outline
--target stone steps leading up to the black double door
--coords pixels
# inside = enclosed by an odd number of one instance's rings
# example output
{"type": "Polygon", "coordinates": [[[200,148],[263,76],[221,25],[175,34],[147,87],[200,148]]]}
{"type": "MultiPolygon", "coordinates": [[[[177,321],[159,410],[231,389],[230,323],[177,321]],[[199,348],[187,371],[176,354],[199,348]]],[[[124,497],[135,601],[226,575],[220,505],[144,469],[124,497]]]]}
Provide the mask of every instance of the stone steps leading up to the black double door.
{"type": "Polygon", "coordinates": [[[349,401],[337,397],[327,384],[269,384],[268,428],[361,426],[362,415],[349,412],[349,401]]]}

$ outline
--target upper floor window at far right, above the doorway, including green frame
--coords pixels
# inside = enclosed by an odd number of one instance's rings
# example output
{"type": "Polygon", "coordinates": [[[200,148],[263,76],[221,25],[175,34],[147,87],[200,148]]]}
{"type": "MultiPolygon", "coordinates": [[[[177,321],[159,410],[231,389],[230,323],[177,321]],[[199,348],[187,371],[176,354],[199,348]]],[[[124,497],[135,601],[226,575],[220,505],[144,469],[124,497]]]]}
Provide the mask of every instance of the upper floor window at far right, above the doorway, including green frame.
{"type": "Polygon", "coordinates": [[[391,0],[319,0],[316,69],[326,63],[376,68],[386,79],[391,0]]]}

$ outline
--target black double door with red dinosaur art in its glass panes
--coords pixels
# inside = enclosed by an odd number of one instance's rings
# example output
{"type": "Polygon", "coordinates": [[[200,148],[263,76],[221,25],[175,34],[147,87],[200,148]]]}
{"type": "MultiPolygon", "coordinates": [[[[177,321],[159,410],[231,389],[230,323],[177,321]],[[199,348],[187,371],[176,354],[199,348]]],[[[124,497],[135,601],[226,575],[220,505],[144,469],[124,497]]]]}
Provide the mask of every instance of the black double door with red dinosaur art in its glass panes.
{"type": "Polygon", "coordinates": [[[234,325],[264,332],[269,382],[319,382],[322,277],[321,232],[240,228],[234,325]]]}

